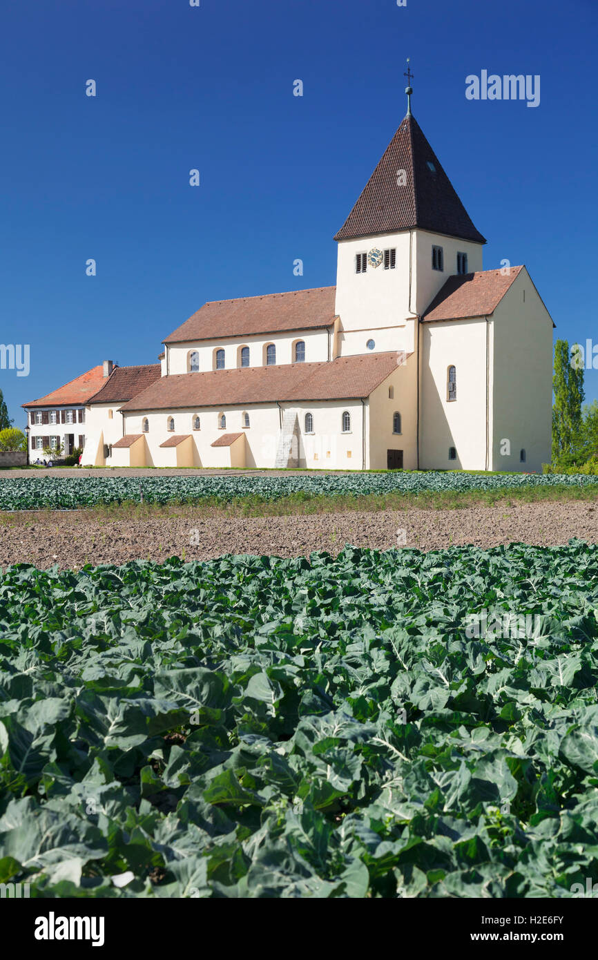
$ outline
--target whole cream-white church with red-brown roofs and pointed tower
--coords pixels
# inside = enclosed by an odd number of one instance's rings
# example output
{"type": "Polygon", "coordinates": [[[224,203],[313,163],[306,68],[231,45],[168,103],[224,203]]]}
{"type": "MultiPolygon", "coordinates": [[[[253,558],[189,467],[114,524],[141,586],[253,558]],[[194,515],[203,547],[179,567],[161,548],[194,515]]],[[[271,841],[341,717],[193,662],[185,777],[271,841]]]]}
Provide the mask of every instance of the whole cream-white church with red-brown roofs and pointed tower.
{"type": "Polygon", "coordinates": [[[549,461],[554,324],[525,267],[483,270],[410,105],[335,240],[335,286],[208,301],[159,364],[110,371],[85,402],[84,464],[549,461]]]}

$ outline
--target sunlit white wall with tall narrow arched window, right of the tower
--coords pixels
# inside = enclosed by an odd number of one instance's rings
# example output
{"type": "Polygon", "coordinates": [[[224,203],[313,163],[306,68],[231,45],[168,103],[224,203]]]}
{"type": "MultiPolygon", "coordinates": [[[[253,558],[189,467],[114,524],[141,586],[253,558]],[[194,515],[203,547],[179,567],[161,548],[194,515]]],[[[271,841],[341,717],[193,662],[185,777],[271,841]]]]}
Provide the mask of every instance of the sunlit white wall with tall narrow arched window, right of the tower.
{"type": "MultiPolygon", "coordinates": [[[[421,324],[419,467],[486,468],[486,320],[421,324]],[[457,399],[447,399],[448,367],[457,399]],[[449,447],[457,452],[449,460],[449,447]]],[[[491,389],[491,385],[490,385],[491,389]]]]}

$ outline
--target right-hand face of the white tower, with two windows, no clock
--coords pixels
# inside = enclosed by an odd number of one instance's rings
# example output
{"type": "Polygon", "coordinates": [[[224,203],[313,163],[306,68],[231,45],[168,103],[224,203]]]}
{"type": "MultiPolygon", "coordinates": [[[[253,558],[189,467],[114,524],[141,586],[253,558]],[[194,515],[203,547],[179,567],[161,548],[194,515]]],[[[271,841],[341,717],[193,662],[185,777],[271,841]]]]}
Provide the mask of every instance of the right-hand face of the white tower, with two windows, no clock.
{"type": "Polygon", "coordinates": [[[467,254],[467,273],[483,270],[483,246],[467,240],[457,240],[443,233],[414,230],[414,277],[416,293],[413,309],[419,313],[428,308],[449,276],[457,273],[457,253],[467,254]],[[432,269],[432,247],[443,248],[443,270],[432,269]]]}

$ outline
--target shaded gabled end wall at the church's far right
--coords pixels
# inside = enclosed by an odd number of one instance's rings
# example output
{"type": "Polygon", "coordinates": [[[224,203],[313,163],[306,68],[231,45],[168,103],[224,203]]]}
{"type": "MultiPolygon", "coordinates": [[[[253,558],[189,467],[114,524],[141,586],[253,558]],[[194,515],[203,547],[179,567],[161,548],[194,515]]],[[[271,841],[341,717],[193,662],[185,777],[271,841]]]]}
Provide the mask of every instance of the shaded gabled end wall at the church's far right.
{"type": "Polygon", "coordinates": [[[551,458],[553,325],[527,270],[493,320],[491,469],[541,472],[551,458]]]}

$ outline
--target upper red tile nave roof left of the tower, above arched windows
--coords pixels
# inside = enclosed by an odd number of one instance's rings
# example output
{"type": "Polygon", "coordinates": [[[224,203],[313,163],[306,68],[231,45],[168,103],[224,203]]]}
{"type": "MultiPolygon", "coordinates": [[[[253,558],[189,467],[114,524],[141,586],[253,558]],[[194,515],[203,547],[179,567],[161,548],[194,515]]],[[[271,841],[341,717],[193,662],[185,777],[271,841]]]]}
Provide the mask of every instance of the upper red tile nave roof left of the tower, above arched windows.
{"type": "Polygon", "coordinates": [[[166,337],[165,344],[249,337],[255,333],[306,330],[334,321],[336,287],[292,290],[264,297],[214,300],[166,337]]]}

